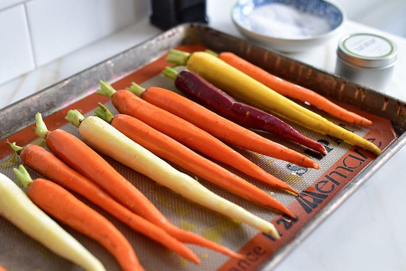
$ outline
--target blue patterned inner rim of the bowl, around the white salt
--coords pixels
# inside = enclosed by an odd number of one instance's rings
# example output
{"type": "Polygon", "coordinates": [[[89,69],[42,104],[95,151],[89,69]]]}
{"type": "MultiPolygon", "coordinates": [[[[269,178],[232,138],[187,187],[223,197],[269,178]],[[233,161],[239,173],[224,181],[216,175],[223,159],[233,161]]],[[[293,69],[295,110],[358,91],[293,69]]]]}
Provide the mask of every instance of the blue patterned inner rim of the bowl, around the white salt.
{"type": "Polygon", "coordinates": [[[244,27],[245,18],[254,9],[274,3],[292,6],[300,12],[326,19],[330,31],[339,27],[344,21],[343,11],[324,0],[242,0],[234,5],[232,18],[236,24],[244,27]]]}

